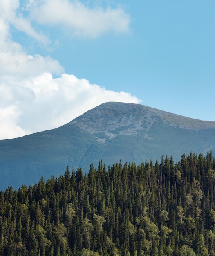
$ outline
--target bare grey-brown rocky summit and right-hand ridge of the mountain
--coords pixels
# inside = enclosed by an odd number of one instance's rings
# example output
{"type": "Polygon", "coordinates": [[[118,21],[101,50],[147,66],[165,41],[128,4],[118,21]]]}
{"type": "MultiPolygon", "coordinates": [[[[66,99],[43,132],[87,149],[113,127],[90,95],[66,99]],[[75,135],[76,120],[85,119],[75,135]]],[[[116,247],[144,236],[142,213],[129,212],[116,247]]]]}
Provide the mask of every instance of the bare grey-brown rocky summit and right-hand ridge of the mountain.
{"type": "Polygon", "coordinates": [[[132,134],[134,130],[149,130],[155,121],[188,130],[215,128],[215,121],[202,121],[150,108],[141,104],[108,102],[87,111],[70,124],[76,124],[90,133],[120,130],[120,134],[132,134]],[[93,126],[92,124],[96,124],[93,126]],[[124,129],[123,129],[124,128],[124,129]]]}

